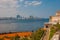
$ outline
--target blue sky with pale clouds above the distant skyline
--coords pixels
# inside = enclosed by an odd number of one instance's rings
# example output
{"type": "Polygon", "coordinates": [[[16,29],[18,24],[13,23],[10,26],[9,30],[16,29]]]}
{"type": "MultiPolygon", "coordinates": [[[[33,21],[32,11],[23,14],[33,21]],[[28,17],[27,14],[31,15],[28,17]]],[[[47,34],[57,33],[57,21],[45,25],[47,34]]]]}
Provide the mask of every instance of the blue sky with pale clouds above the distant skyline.
{"type": "Polygon", "coordinates": [[[0,0],[0,17],[49,18],[59,10],[60,0],[0,0]]]}

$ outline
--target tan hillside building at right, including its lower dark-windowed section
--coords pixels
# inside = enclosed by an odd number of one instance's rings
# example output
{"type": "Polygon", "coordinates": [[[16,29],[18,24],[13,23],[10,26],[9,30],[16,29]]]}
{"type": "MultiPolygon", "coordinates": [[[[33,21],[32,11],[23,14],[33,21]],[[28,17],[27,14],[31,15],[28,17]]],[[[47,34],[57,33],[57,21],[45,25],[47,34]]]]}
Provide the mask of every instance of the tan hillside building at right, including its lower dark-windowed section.
{"type": "Polygon", "coordinates": [[[56,15],[50,16],[49,22],[44,23],[44,28],[48,28],[50,25],[57,24],[58,22],[60,24],[60,11],[57,11],[56,15]]]}

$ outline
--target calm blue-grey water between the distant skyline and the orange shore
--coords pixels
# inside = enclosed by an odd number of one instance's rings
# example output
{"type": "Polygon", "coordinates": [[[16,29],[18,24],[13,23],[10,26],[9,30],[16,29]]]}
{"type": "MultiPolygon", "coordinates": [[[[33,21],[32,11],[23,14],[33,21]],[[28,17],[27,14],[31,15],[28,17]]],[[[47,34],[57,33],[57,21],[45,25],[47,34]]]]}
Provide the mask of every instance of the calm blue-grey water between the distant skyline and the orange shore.
{"type": "Polygon", "coordinates": [[[32,31],[37,30],[44,26],[44,22],[48,22],[49,19],[43,19],[39,21],[16,21],[14,20],[0,20],[0,33],[1,32],[16,32],[16,31],[32,31]]]}

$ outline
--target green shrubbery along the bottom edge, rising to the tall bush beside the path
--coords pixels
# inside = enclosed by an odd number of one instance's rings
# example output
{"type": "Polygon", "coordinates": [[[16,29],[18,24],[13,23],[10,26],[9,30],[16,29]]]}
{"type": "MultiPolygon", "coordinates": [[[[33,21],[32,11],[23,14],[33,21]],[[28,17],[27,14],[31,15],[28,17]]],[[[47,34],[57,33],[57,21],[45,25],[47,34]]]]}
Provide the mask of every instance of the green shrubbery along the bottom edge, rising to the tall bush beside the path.
{"type": "MultiPolygon", "coordinates": [[[[44,34],[44,30],[40,28],[37,31],[33,32],[30,37],[23,37],[21,39],[19,35],[16,35],[15,37],[4,36],[4,38],[11,39],[11,40],[40,40],[43,34],[44,34]]],[[[0,38],[0,40],[3,40],[4,38],[0,38]]]]}

